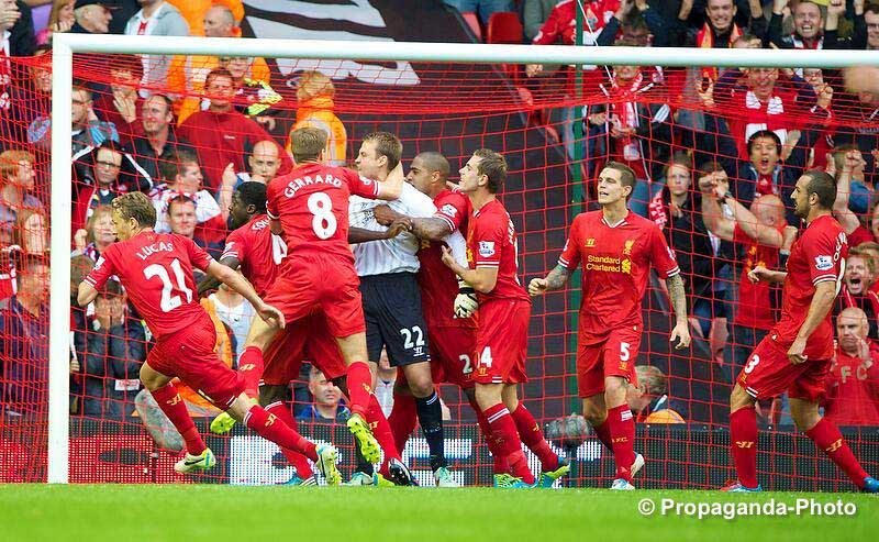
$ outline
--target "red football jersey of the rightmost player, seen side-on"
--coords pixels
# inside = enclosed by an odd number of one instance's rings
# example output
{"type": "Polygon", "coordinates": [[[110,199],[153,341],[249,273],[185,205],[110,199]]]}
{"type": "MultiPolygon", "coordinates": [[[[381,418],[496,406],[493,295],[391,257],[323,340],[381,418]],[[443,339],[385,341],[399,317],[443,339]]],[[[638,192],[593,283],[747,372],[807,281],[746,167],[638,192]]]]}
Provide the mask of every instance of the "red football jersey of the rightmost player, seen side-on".
{"type": "MultiPolygon", "coordinates": [[[[839,292],[839,281],[845,273],[848,243],[839,222],[830,214],[819,217],[793,242],[788,256],[788,276],[781,294],[781,319],[771,334],[785,350],[793,344],[797,333],[805,322],[815,285],[832,280],[839,292]]],[[[833,323],[831,312],[824,317],[809,338],[803,354],[813,360],[833,356],[833,323]]]]}

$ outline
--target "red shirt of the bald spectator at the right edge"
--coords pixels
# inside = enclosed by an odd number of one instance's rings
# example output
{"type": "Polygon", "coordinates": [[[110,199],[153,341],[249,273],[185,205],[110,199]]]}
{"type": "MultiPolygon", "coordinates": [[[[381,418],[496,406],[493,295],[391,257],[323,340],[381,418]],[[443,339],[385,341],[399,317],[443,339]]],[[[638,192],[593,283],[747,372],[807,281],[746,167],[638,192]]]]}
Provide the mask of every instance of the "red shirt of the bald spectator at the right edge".
{"type": "MultiPolygon", "coordinates": [[[[870,344],[870,354],[879,360],[879,349],[870,344]]],[[[837,425],[879,424],[879,365],[867,366],[863,360],[836,350],[831,374],[827,376],[827,420],[837,425]]]]}

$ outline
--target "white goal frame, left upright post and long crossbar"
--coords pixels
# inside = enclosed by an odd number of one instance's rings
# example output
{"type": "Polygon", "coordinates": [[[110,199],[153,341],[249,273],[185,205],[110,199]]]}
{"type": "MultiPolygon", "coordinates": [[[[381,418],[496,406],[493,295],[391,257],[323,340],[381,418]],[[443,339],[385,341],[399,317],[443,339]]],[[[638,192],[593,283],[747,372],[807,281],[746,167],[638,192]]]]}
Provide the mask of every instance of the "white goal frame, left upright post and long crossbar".
{"type": "Polygon", "coordinates": [[[474,64],[736,66],[845,68],[879,66],[879,51],[781,51],[679,47],[485,45],[204,38],[58,33],[53,35],[52,204],[48,383],[49,483],[69,475],[70,148],[74,53],[260,56],[315,60],[408,60],[474,64]]]}

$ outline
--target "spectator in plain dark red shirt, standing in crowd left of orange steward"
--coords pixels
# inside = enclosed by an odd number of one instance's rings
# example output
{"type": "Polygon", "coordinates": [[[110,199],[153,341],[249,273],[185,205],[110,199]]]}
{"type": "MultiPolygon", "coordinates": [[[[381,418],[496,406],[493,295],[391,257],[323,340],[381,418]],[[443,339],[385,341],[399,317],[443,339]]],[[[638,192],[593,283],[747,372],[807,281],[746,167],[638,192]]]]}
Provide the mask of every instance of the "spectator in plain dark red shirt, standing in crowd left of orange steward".
{"type": "MultiPolygon", "coordinates": [[[[271,140],[271,136],[233,108],[235,87],[229,70],[221,68],[208,74],[205,91],[211,100],[208,110],[192,113],[180,124],[177,135],[196,147],[199,164],[204,168],[205,187],[215,193],[229,164],[235,172],[243,172],[245,155],[256,143],[271,140]]],[[[283,174],[291,162],[286,153],[281,156],[283,174]]]]}

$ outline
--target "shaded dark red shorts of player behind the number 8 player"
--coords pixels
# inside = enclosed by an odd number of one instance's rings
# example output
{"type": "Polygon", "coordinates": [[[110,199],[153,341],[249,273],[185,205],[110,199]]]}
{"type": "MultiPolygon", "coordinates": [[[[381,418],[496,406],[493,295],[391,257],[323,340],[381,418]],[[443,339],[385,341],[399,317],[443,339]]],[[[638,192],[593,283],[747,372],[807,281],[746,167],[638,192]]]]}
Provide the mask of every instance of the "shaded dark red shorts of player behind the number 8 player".
{"type": "Polygon", "coordinates": [[[263,381],[286,386],[299,378],[302,361],[308,360],[330,380],[345,376],[345,361],[330,333],[323,314],[311,314],[288,324],[266,350],[263,381]]]}

